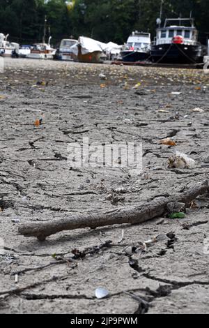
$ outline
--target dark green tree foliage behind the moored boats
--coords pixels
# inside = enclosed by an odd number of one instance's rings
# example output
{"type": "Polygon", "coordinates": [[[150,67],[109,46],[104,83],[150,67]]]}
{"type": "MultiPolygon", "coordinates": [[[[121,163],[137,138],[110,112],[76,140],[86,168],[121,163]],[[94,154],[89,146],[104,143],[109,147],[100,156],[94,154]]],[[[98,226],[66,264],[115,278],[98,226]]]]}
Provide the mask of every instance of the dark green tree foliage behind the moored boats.
{"type": "Polygon", "coordinates": [[[199,30],[209,31],[208,0],[0,0],[0,32],[20,43],[41,41],[47,17],[54,43],[71,35],[124,43],[135,29],[155,36],[161,1],[162,20],[192,13],[199,30]]]}

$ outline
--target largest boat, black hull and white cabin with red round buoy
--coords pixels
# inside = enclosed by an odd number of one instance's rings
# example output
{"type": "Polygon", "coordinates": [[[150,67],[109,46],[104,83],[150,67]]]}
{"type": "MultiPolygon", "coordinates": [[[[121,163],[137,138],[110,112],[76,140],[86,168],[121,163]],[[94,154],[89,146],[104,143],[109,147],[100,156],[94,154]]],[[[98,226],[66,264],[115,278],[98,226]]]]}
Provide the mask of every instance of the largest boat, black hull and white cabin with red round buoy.
{"type": "Polygon", "coordinates": [[[167,19],[164,27],[157,28],[151,59],[162,64],[203,63],[207,48],[199,43],[198,37],[193,18],[167,19]]]}

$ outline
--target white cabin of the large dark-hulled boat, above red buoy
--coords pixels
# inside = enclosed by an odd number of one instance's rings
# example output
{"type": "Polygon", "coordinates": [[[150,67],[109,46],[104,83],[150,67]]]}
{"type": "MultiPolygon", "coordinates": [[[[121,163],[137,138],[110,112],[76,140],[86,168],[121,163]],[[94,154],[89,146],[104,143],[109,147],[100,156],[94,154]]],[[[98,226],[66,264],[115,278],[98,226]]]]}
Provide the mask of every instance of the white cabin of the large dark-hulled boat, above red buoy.
{"type": "Polygon", "coordinates": [[[197,41],[198,31],[194,26],[193,19],[167,19],[165,20],[164,27],[157,29],[155,45],[171,43],[195,45],[197,41]],[[176,24],[172,25],[173,22],[176,24]]]}

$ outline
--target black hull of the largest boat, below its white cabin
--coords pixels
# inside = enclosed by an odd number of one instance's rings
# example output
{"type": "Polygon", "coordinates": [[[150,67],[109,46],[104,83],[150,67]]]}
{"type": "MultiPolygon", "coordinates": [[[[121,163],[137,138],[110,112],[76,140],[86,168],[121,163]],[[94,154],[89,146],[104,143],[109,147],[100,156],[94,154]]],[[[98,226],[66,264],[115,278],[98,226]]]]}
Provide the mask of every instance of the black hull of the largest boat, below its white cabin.
{"type": "Polygon", "coordinates": [[[207,49],[203,45],[153,45],[151,57],[153,62],[162,64],[198,64],[203,63],[207,49]]]}

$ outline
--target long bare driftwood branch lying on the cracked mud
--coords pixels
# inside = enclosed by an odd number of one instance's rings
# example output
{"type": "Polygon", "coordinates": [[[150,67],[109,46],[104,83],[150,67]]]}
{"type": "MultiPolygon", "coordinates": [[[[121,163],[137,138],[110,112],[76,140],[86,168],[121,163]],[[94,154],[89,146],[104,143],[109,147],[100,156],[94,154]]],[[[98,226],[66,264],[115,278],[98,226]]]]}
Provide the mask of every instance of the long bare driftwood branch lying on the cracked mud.
{"type": "Polygon", "coordinates": [[[181,202],[188,205],[199,195],[209,191],[208,181],[197,184],[193,188],[170,197],[158,197],[151,202],[142,204],[139,207],[127,207],[108,211],[103,214],[88,214],[82,216],[72,216],[50,223],[28,223],[21,225],[19,234],[24,237],[37,237],[39,241],[44,241],[47,237],[63,230],[76,230],[83,228],[97,228],[116,224],[139,224],[152,220],[167,213],[167,205],[181,202]]]}

